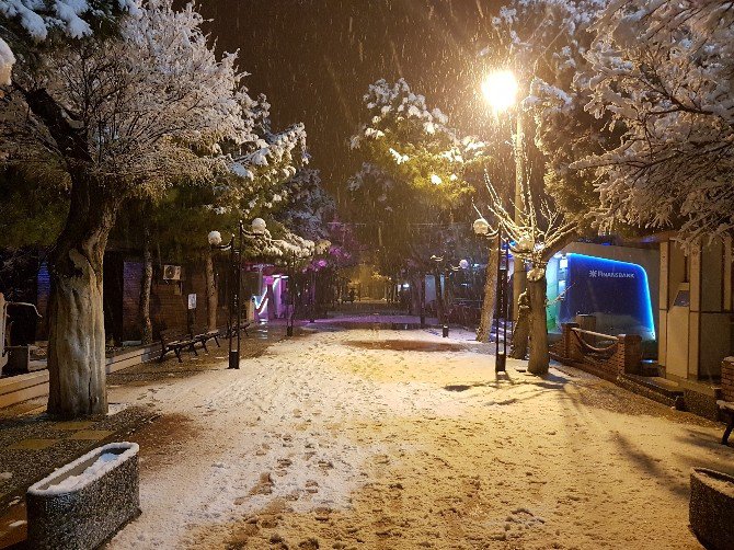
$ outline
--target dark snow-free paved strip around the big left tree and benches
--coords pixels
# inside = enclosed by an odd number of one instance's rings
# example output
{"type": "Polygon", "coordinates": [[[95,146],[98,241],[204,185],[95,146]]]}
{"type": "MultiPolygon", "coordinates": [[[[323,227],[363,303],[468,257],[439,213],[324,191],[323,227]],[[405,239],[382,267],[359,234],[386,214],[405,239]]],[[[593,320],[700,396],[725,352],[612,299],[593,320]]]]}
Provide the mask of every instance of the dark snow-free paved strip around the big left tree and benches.
{"type": "MultiPolygon", "coordinates": [[[[300,331],[300,329],[299,329],[300,331]]],[[[242,340],[243,364],[262,355],[285,336],[285,326],[275,324],[250,329],[242,340]]],[[[213,343],[214,344],[214,343],[213,343]]],[[[210,345],[208,355],[183,354],[184,362],[170,357],[127,368],[107,376],[110,414],[79,422],[56,422],[45,414],[46,398],[0,409],[0,548],[24,538],[25,489],[84,452],[108,443],[129,438],[140,426],[154,422],[159,413],[149,402],[115,402],[114,392],[124,387],[165,387],[182,379],[227,367],[228,341],[210,345]]]]}

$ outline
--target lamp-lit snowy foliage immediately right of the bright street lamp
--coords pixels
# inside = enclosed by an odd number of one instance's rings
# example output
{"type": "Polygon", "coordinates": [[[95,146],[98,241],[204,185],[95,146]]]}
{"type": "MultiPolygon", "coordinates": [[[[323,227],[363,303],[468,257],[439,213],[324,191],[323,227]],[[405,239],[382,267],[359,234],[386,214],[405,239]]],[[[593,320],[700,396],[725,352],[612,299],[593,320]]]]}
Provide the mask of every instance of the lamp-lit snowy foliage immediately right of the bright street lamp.
{"type": "Polygon", "coordinates": [[[526,91],[517,116],[531,117],[525,129],[543,164],[542,186],[534,183],[534,192],[551,196],[563,216],[575,221],[577,234],[593,231],[588,213],[598,195],[594,172],[572,164],[604,151],[613,138],[605,127],[609,116],[597,119],[584,110],[594,76],[585,57],[594,38],[590,25],[607,2],[513,0],[493,20],[500,47],[489,54],[503,60],[493,62],[514,60],[512,69],[526,91]]]}

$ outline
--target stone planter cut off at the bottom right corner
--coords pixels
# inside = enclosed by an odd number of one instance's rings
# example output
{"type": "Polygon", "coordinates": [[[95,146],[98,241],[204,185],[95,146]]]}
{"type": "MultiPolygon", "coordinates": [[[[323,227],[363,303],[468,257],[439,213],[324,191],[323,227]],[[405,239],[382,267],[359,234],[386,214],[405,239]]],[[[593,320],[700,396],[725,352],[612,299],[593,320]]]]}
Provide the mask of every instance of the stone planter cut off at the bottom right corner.
{"type": "Polygon", "coordinates": [[[690,526],[709,550],[734,548],[734,478],[706,468],[690,474],[690,526]]]}

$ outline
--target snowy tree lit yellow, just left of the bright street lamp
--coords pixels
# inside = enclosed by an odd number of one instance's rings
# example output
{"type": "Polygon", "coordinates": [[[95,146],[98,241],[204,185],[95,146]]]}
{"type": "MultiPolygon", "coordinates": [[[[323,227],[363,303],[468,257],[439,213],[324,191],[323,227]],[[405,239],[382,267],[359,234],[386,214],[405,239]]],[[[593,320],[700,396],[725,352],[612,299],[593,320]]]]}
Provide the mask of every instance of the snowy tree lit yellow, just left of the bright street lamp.
{"type": "Polygon", "coordinates": [[[467,206],[472,180],[481,179],[486,147],[460,136],[403,79],[370,84],[364,103],[368,122],[351,141],[365,160],[347,182],[352,209],[367,224],[362,237],[375,243],[385,275],[411,274],[416,305],[420,278],[436,267],[431,255],[450,240],[452,211],[467,206]]]}

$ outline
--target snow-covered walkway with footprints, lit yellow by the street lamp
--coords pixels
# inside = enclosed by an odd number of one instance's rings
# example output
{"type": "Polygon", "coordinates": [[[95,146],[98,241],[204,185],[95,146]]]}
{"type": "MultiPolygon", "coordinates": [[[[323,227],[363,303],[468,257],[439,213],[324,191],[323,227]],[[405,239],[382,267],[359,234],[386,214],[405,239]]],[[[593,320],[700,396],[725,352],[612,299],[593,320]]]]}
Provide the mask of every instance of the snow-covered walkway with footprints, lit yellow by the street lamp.
{"type": "Polygon", "coordinates": [[[700,548],[689,469],[734,471],[718,426],[566,367],[495,376],[452,336],[319,332],[113,389],[162,416],[110,548],[700,548]]]}

